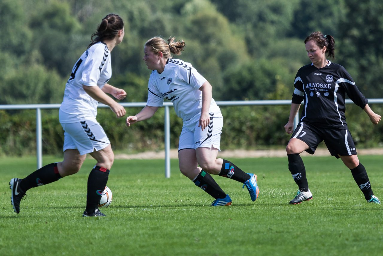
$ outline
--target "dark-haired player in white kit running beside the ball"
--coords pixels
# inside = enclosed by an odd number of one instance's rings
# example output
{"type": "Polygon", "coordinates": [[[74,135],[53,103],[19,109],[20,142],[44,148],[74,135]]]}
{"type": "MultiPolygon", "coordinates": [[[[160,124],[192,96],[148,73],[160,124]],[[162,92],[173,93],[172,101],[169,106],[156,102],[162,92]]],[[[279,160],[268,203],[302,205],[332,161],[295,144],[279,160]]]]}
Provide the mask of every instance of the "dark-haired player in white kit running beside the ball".
{"type": "Polygon", "coordinates": [[[83,216],[105,216],[98,210],[98,203],[108,181],[114,154],[105,131],[96,120],[97,104],[108,105],[118,118],[126,114],[124,107],[106,94],[119,100],[126,97],[123,89],[108,84],[112,74],[110,52],[123,38],[121,17],[113,13],[106,15],[92,35],[87,50],[74,65],[65,86],[59,110],[59,120],[64,129],[64,160],[45,165],[26,178],[10,181],[11,203],[16,213],[20,212],[20,201],[27,190],[77,173],[90,154],[97,164],[88,177],[87,205],[83,216]]]}

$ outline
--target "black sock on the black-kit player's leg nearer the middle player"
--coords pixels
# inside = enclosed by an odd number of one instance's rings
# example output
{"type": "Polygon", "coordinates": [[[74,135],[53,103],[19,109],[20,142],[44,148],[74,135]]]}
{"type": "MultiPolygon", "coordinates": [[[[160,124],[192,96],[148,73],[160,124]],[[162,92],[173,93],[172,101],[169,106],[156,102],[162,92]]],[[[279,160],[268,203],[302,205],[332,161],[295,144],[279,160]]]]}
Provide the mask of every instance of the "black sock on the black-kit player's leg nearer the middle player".
{"type": "Polygon", "coordinates": [[[306,178],[306,168],[304,168],[303,160],[299,154],[288,154],[288,169],[293,175],[294,181],[300,191],[308,192],[309,184],[306,178]]]}

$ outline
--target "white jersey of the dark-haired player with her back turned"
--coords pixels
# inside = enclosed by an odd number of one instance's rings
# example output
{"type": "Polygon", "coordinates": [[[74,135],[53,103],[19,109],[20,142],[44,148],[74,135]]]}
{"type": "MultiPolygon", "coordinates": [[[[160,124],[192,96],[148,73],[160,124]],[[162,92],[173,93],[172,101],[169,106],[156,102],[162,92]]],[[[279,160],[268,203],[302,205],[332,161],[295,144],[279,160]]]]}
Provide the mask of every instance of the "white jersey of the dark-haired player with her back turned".
{"type": "Polygon", "coordinates": [[[96,120],[98,102],[82,86],[98,86],[102,89],[111,76],[108,46],[102,42],[95,43],[81,55],[72,69],[60,106],[60,122],[68,124],[96,120]]]}

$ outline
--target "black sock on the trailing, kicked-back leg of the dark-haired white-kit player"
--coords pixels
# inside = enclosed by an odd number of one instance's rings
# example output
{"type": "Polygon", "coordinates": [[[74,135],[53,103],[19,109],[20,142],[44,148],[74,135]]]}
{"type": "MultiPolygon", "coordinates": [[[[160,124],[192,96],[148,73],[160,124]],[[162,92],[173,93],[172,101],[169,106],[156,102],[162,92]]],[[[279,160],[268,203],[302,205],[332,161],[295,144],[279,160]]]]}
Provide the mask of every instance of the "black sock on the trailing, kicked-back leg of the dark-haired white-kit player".
{"type": "Polygon", "coordinates": [[[29,174],[20,182],[20,189],[25,193],[30,188],[46,185],[61,178],[57,163],[52,163],[41,167],[29,174]]]}

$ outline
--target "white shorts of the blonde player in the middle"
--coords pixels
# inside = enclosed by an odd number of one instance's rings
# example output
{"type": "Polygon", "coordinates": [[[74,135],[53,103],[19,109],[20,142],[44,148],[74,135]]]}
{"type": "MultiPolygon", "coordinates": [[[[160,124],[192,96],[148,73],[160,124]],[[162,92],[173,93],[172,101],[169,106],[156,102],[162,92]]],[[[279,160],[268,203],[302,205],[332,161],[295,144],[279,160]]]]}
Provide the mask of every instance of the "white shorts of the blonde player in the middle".
{"type": "Polygon", "coordinates": [[[181,149],[197,149],[199,147],[211,148],[211,146],[221,151],[219,146],[221,144],[223,118],[213,116],[210,118],[209,126],[204,130],[198,127],[198,122],[199,119],[192,130],[185,126],[182,127],[178,151],[181,149]]]}

